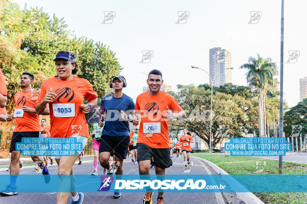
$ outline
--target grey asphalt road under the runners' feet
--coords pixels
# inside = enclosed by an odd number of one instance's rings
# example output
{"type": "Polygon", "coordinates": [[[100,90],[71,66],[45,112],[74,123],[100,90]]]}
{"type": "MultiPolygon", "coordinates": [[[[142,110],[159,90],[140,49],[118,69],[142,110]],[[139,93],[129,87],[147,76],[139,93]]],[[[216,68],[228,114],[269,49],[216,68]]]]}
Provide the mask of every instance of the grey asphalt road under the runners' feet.
{"type": "MultiPolygon", "coordinates": [[[[183,157],[172,159],[173,166],[166,169],[166,174],[181,174],[183,170],[183,157]]],[[[211,174],[208,168],[204,166],[204,163],[193,158],[194,162],[193,167],[191,168],[190,174],[211,174]]],[[[33,174],[34,167],[24,167],[20,169],[20,174],[33,174]]],[[[98,173],[102,174],[103,168],[101,166],[98,167],[98,173]]],[[[91,173],[93,171],[93,162],[92,161],[84,161],[82,165],[74,165],[74,173],[75,174],[86,174],[91,173]]],[[[50,166],[50,173],[57,174],[57,166],[50,166]]],[[[154,174],[155,170],[150,169],[150,174],[154,174]]],[[[0,170],[0,174],[9,174],[8,171],[0,170]]],[[[131,163],[131,158],[127,158],[124,161],[124,174],[138,174],[138,164],[131,163]]],[[[144,193],[122,193],[121,199],[113,199],[113,193],[84,193],[84,201],[83,204],[91,204],[91,203],[142,203],[144,193]]],[[[164,194],[164,202],[168,203],[212,203],[212,204],[224,204],[224,200],[222,198],[221,193],[165,193],[164,194]],[[222,199],[222,201],[221,201],[222,199]]],[[[232,197],[232,196],[231,196],[232,197]]],[[[153,201],[157,199],[157,193],[152,195],[153,201]]],[[[69,196],[68,202],[71,203],[72,197],[69,196]]],[[[3,197],[0,196],[0,203],[31,203],[31,204],[49,204],[56,203],[56,193],[18,193],[14,196],[3,197]]],[[[155,203],[155,202],[153,202],[155,203]]],[[[226,202],[227,203],[227,202],[226,202]]],[[[232,203],[239,203],[232,202],[232,203]]],[[[240,202],[242,203],[242,202],[240,202]]]]}

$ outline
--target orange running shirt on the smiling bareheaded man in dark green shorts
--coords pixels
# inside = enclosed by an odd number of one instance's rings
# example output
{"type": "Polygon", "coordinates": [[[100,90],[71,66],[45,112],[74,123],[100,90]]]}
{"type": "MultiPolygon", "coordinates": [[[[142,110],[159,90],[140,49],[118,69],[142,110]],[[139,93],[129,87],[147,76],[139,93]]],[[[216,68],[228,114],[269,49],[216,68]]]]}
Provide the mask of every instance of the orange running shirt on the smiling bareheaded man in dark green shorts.
{"type": "Polygon", "coordinates": [[[141,113],[138,143],[152,148],[169,148],[166,107],[173,113],[183,111],[176,99],[163,91],[154,96],[147,91],[137,97],[135,112],[141,113]]]}

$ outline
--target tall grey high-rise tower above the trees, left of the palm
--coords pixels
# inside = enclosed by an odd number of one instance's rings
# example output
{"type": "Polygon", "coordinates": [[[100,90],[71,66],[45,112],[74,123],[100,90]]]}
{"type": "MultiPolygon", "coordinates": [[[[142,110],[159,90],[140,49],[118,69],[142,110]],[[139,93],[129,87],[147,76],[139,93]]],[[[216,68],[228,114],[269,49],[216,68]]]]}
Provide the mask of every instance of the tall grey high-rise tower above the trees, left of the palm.
{"type": "Polygon", "coordinates": [[[213,86],[232,83],[231,53],[221,47],[209,49],[209,68],[213,86]]]}

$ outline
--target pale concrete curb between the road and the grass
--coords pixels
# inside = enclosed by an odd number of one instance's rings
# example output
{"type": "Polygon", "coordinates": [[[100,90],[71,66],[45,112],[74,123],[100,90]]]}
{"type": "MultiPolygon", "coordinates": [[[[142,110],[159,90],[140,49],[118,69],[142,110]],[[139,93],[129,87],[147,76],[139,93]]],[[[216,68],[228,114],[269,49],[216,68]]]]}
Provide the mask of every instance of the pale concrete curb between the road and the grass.
{"type": "MultiPolygon", "coordinates": [[[[191,156],[194,157],[195,159],[204,161],[206,164],[208,164],[211,168],[214,169],[214,171],[216,171],[218,174],[222,174],[222,175],[226,175],[228,174],[226,171],[224,171],[222,168],[216,166],[215,164],[213,164],[212,162],[199,158],[199,157],[195,157],[195,156],[191,156]]],[[[255,196],[253,193],[249,192],[249,193],[236,193],[238,195],[238,197],[240,199],[242,199],[245,203],[253,203],[253,204],[265,204],[264,202],[262,202],[257,196],[255,196]]]]}

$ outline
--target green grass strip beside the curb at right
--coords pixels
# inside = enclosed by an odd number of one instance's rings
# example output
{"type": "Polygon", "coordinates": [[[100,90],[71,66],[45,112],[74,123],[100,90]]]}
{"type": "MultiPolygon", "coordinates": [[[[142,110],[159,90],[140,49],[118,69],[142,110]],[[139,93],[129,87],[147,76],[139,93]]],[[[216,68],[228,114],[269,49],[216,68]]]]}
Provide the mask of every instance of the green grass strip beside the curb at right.
{"type": "MultiPolygon", "coordinates": [[[[221,167],[229,174],[278,174],[278,160],[254,157],[231,157],[207,153],[191,154],[208,160],[221,167]],[[266,161],[262,173],[256,173],[255,161],[266,161]]],[[[283,174],[307,174],[307,164],[282,162],[283,174]]],[[[307,193],[254,193],[264,203],[272,204],[303,204],[307,203],[307,193]]]]}

